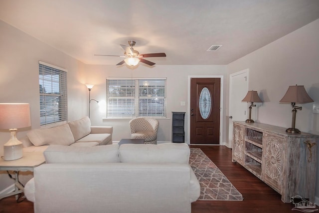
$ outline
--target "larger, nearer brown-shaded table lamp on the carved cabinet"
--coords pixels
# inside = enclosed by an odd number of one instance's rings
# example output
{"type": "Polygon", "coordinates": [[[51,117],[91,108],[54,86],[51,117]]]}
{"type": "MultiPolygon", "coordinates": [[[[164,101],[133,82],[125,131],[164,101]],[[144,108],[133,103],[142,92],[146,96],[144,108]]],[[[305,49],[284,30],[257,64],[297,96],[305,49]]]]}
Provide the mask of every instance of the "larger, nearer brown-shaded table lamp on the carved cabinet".
{"type": "Polygon", "coordinates": [[[311,103],[314,102],[314,100],[307,94],[305,87],[298,86],[289,86],[286,94],[284,97],[280,100],[280,102],[283,103],[291,103],[291,106],[293,107],[293,119],[292,119],[292,127],[286,129],[286,132],[289,133],[300,133],[300,130],[295,128],[296,125],[296,113],[297,109],[302,110],[302,107],[295,106],[296,103],[305,104],[305,103],[311,103]]]}

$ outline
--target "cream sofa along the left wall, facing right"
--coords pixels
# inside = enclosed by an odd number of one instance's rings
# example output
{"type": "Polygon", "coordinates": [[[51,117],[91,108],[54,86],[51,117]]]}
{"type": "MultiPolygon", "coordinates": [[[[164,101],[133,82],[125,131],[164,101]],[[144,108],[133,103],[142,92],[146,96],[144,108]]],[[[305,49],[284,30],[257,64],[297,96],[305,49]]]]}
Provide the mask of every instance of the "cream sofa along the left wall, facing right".
{"type": "Polygon", "coordinates": [[[85,146],[112,144],[113,127],[91,126],[89,117],[51,128],[32,129],[20,139],[23,152],[43,152],[49,145],[85,146]]]}

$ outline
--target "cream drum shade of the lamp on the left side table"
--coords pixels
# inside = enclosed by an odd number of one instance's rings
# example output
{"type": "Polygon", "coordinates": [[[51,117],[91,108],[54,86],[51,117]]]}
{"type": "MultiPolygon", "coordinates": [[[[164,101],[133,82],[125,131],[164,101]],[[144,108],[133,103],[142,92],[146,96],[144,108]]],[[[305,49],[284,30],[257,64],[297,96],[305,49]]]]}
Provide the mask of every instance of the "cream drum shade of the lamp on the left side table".
{"type": "Polygon", "coordinates": [[[25,103],[0,103],[0,129],[31,126],[30,106],[25,103]]]}

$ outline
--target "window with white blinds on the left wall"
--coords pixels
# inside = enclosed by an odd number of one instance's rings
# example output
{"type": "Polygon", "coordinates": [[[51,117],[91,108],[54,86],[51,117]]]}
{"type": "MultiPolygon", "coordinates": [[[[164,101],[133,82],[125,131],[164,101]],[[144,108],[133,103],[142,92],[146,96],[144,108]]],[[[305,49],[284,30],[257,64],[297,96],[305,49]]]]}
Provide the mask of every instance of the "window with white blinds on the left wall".
{"type": "Polygon", "coordinates": [[[67,71],[39,61],[40,125],[67,120],[67,71]]]}

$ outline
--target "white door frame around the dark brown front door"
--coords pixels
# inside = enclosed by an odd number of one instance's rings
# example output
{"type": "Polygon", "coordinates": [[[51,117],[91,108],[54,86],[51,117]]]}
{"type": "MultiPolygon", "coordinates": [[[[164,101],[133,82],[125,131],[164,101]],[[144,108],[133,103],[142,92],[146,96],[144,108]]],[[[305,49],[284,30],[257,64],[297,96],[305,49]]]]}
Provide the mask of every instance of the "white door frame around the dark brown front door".
{"type": "MultiPolygon", "coordinates": [[[[219,107],[219,145],[225,145],[223,139],[223,94],[224,76],[223,75],[188,75],[187,89],[187,144],[190,145],[190,78],[220,78],[220,107],[219,107]]],[[[212,144],[218,145],[218,144],[212,144]]]]}

